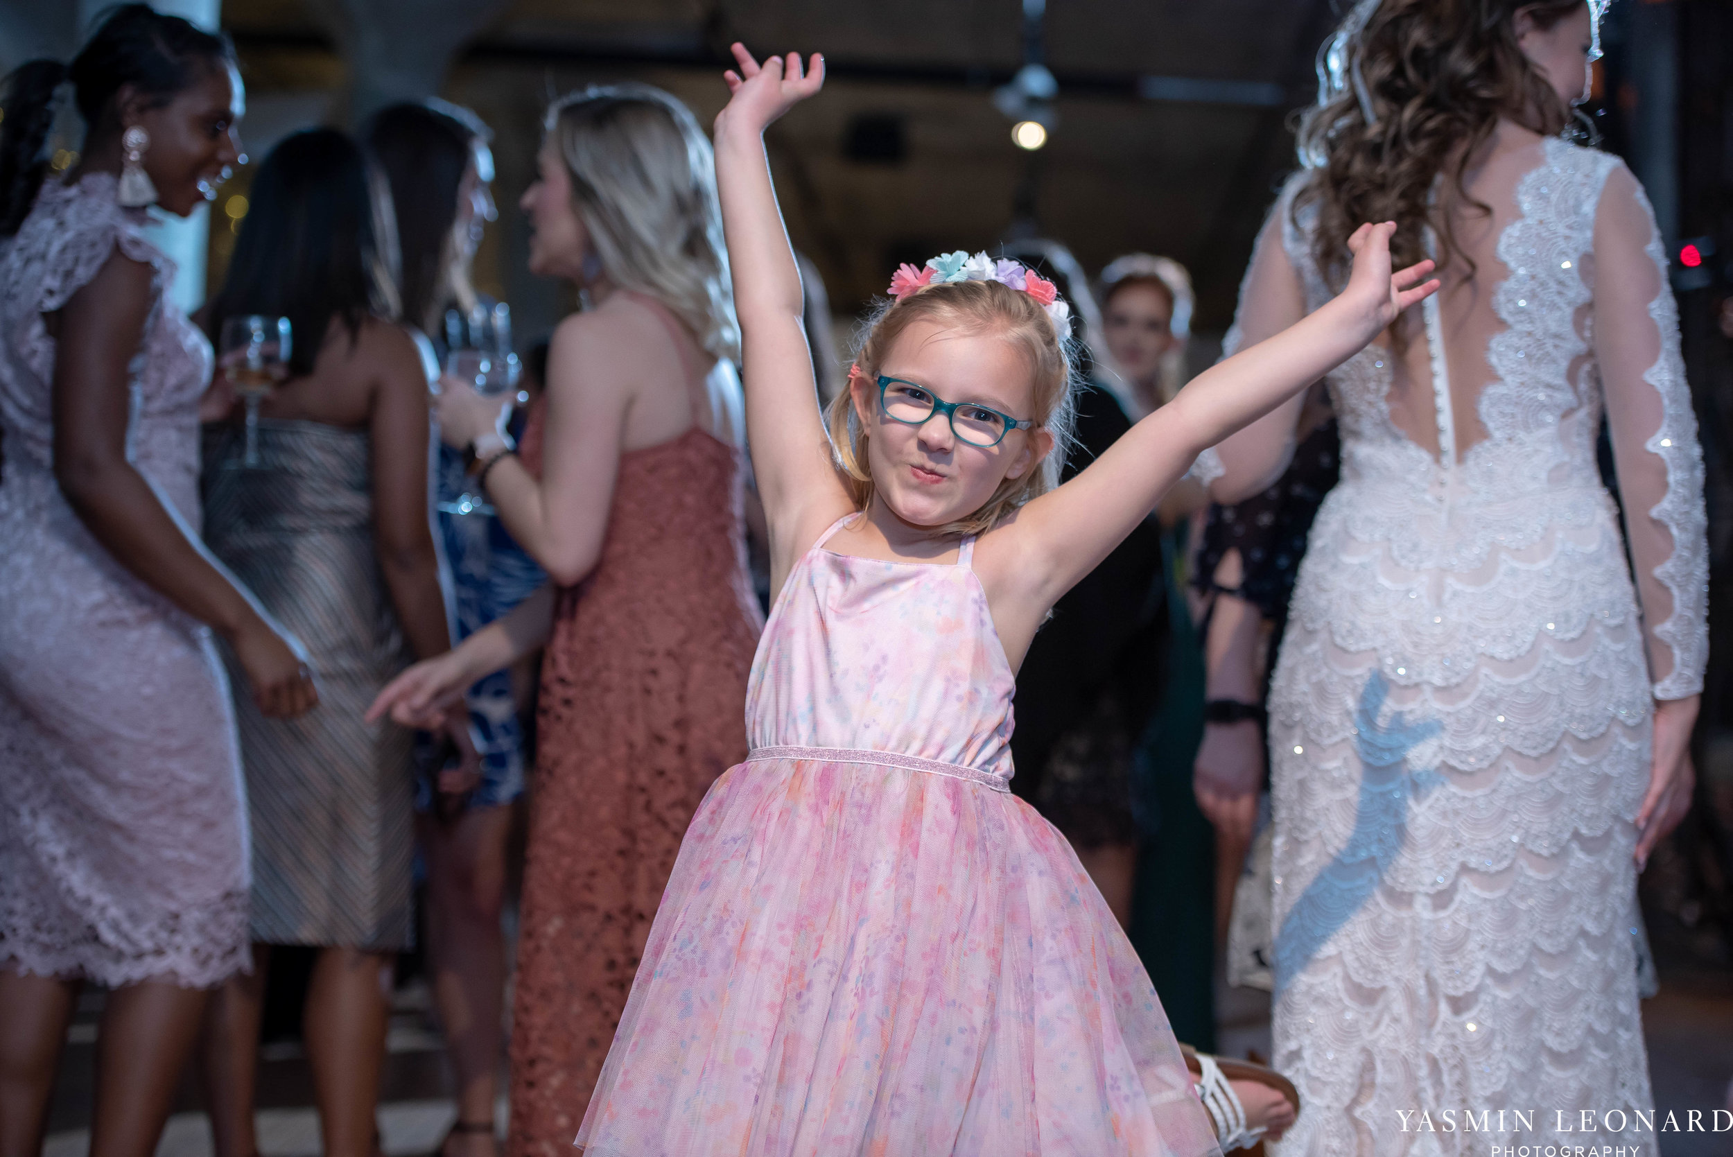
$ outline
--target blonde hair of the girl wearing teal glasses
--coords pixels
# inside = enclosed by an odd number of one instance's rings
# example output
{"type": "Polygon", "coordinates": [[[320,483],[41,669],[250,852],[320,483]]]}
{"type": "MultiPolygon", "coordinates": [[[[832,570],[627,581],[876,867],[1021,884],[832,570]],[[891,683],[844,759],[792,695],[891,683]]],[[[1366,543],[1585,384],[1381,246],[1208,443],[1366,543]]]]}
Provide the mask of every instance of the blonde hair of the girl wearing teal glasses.
{"type": "MultiPolygon", "coordinates": [[[[854,352],[854,365],[866,381],[877,381],[891,346],[910,326],[922,320],[969,334],[996,334],[1014,343],[1035,379],[1035,412],[1028,417],[1054,440],[1054,449],[1045,459],[1021,478],[1002,480],[977,511],[938,527],[944,535],[983,533],[1029,499],[1059,485],[1076,416],[1071,397],[1071,338],[1061,334],[1040,301],[1021,289],[996,281],[932,284],[905,298],[880,303],[866,319],[854,352]]],[[[854,499],[854,506],[866,509],[873,495],[873,480],[866,459],[866,430],[854,410],[853,390],[842,390],[830,400],[827,426],[837,471],[849,497],[854,499]]]]}

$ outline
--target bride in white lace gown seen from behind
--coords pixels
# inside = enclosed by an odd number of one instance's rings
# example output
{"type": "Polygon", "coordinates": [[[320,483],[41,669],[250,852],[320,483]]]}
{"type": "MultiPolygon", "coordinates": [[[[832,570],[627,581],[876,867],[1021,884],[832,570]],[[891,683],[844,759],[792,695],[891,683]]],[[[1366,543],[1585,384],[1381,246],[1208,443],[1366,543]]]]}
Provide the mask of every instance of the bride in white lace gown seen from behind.
{"type": "MultiPolygon", "coordinates": [[[[1326,301],[1347,222],[1442,260],[1327,379],[1341,483],[1270,695],[1274,1063],[1303,1098],[1282,1157],[1655,1141],[1631,1115],[1636,873],[1690,797],[1707,547],[1648,201],[1558,135],[1596,16],[1360,3],[1229,336],[1326,301]]],[[[1296,414],[1218,447],[1218,501],[1269,485],[1296,414]]]]}

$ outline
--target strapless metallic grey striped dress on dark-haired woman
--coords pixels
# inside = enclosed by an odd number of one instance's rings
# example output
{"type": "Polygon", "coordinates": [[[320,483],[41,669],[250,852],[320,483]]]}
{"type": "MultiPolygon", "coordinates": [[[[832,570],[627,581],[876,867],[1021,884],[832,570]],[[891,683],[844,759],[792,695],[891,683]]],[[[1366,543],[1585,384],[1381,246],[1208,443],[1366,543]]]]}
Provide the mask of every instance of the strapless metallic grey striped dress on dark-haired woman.
{"type": "Polygon", "coordinates": [[[411,733],[362,714],[409,663],[380,575],[366,431],[258,423],[204,435],[204,539],[312,655],[319,707],[236,696],[253,816],[253,939],[395,951],[412,940],[411,733]]]}

